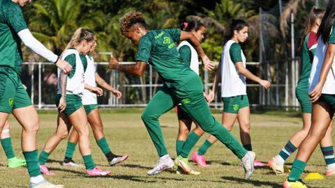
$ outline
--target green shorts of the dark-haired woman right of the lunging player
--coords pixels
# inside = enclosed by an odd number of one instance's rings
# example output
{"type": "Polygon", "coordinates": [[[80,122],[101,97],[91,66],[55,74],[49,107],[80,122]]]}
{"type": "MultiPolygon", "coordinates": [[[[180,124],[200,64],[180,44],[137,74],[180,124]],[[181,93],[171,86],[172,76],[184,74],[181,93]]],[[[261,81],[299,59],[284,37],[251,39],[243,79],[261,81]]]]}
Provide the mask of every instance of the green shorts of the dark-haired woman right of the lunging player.
{"type": "Polygon", "coordinates": [[[249,106],[248,95],[222,97],[222,100],[223,100],[223,112],[239,113],[239,109],[249,106]]]}

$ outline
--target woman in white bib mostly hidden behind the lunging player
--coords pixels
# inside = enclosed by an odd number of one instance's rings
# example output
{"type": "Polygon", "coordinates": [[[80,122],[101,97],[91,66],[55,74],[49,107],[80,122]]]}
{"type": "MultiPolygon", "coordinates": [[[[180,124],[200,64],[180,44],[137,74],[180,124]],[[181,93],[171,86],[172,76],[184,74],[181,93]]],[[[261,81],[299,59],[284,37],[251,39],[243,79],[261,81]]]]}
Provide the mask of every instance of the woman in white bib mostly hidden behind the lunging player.
{"type": "MultiPolygon", "coordinates": [[[[206,27],[204,24],[197,19],[193,19],[190,22],[184,22],[181,26],[183,31],[188,31],[193,33],[195,38],[201,42],[204,39],[204,33],[206,33],[206,27]]],[[[186,63],[191,70],[193,70],[197,75],[199,75],[199,59],[198,53],[194,47],[187,40],[183,40],[177,47],[177,50],[183,59],[183,63],[186,63]]],[[[204,97],[207,95],[204,94],[204,97]]],[[[176,141],[176,151],[177,156],[181,155],[181,152],[189,153],[193,148],[195,143],[200,139],[200,136],[204,133],[201,127],[195,122],[195,128],[190,132],[192,125],[192,118],[188,115],[181,105],[177,106],[178,122],[179,122],[179,132],[176,141]],[[187,139],[187,141],[186,141],[187,139]]],[[[193,159],[198,161],[200,166],[207,166],[207,164],[201,159],[193,159]]],[[[191,169],[190,169],[191,170],[191,169]]],[[[192,174],[197,173],[196,171],[191,171],[192,174]]]]}

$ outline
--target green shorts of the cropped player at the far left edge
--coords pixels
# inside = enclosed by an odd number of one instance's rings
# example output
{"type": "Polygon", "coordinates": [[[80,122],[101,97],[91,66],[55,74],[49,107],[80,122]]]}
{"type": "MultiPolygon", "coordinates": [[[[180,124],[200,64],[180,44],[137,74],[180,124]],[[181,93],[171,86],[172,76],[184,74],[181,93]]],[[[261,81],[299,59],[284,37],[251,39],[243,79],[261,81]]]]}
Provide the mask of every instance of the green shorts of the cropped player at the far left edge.
{"type": "Polygon", "coordinates": [[[33,105],[24,89],[20,75],[8,66],[0,66],[0,111],[10,113],[13,109],[33,105]]]}

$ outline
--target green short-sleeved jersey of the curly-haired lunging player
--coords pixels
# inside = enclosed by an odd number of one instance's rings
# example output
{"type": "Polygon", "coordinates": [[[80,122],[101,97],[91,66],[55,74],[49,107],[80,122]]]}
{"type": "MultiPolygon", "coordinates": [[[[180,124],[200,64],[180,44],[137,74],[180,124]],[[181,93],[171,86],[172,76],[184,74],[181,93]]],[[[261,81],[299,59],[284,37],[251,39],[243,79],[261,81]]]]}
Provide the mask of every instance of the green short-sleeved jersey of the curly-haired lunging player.
{"type": "Polygon", "coordinates": [[[135,59],[152,65],[169,88],[179,88],[192,77],[198,77],[186,63],[183,63],[174,44],[179,41],[180,33],[180,29],[148,31],[140,39],[135,59]]]}

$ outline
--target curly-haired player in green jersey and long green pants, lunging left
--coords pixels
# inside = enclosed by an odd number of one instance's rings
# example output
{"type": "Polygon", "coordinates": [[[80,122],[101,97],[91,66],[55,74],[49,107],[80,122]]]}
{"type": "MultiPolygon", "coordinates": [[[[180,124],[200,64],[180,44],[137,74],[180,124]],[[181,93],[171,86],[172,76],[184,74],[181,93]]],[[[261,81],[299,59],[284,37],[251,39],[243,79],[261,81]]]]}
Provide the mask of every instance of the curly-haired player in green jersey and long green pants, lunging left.
{"type": "MultiPolygon", "coordinates": [[[[200,77],[188,65],[182,63],[174,44],[179,40],[190,41],[202,58],[204,68],[211,70],[214,68],[214,63],[209,61],[209,58],[204,54],[199,40],[192,33],[180,29],[148,31],[142,13],[135,11],[121,17],[120,31],[123,36],[138,46],[136,63],[135,65],[120,65],[116,58],[111,58],[109,68],[133,75],[143,75],[145,66],[149,63],[164,81],[163,88],[149,101],[141,117],[159,156],[156,166],[147,172],[148,175],[160,173],[174,166],[174,162],[168,155],[158,118],[181,103],[202,130],[217,136],[241,159],[245,178],[250,178],[254,170],[255,153],[245,150],[239,141],[234,139],[232,134],[211,115],[204,99],[200,77]]],[[[188,166],[187,162],[187,159],[185,161],[178,159],[179,166],[184,166],[184,164],[188,166]]],[[[188,169],[184,169],[184,171],[189,173],[188,169]]]]}

